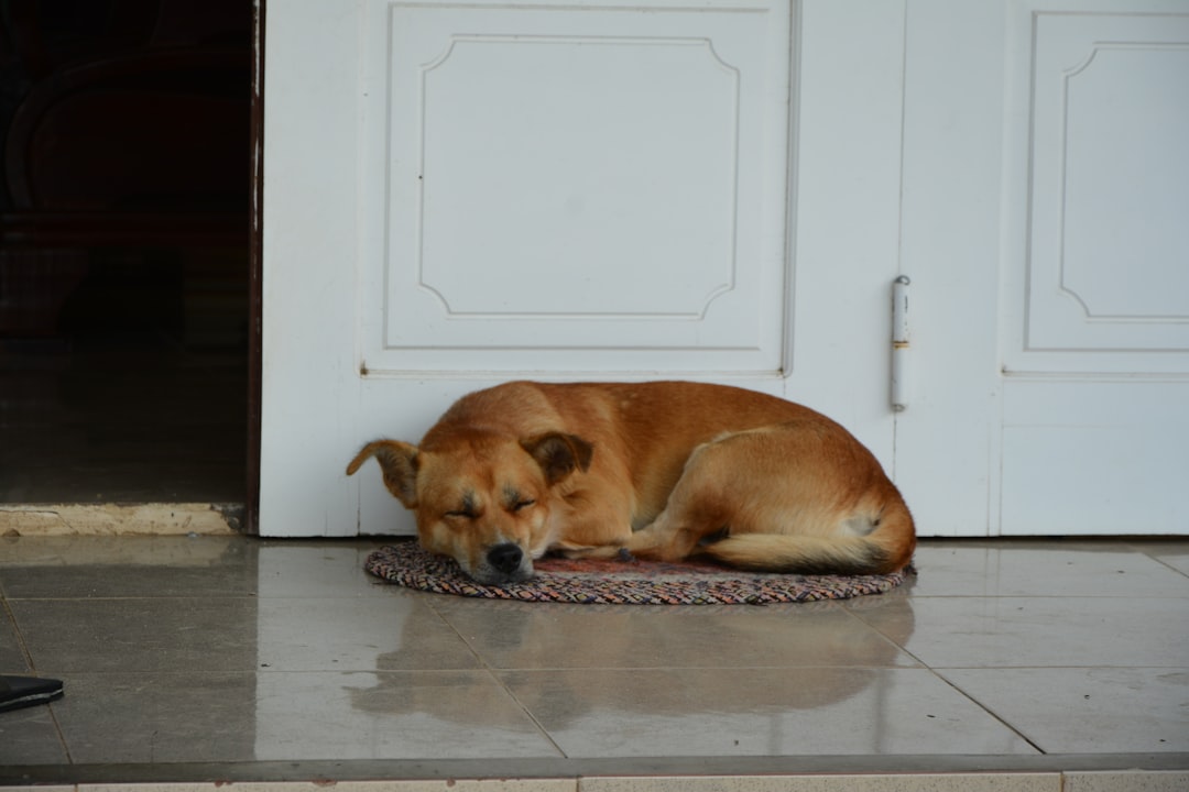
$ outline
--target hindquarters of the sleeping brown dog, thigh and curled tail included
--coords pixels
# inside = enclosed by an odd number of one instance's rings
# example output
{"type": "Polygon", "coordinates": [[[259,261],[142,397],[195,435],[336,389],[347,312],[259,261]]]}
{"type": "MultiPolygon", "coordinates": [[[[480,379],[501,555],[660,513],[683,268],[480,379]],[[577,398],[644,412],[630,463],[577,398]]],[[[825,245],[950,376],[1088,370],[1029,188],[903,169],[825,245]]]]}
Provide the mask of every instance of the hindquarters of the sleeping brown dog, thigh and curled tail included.
{"type": "Polygon", "coordinates": [[[699,446],[665,511],[627,549],[656,560],[858,575],[904,566],[913,545],[912,517],[870,452],[841,429],[803,422],[699,446]]]}

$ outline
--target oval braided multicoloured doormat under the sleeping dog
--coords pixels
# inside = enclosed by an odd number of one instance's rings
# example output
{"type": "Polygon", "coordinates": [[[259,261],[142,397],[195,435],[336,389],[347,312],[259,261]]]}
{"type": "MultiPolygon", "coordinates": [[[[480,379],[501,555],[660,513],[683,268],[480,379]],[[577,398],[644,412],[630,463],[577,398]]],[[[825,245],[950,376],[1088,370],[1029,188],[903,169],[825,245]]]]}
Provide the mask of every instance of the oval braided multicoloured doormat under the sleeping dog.
{"type": "Polygon", "coordinates": [[[435,556],[415,541],[380,547],[364,569],[405,588],[464,597],[518,602],[609,604],[768,604],[847,600],[883,594],[916,574],[912,566],[891,575],[776,575],[744,572],[709,564],[658,564],[629,560],[534,562],[535,577],[509,585],[484,585],[463,574],[452,558],[435,556]]]}

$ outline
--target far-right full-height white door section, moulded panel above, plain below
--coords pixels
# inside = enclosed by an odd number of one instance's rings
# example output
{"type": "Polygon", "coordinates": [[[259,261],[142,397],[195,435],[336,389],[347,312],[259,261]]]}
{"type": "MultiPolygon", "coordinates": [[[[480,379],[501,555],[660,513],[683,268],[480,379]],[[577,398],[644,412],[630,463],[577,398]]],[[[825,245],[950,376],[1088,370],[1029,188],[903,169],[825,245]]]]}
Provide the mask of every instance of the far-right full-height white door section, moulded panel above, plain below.
{"type": "Polygon", "coordinates": [[[1189,13],[1071,9],[1011,19],[999,532],[1184,533],[1189,13]]]}

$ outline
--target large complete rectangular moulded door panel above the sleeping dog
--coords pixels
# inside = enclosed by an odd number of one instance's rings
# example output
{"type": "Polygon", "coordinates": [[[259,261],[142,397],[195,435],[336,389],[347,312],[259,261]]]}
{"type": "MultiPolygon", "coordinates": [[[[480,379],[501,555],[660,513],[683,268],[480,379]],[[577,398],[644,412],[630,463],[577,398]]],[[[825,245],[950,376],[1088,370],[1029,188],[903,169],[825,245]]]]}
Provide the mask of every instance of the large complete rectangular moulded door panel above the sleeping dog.
{"type": "Polygon", "coordinates": [[[787,4],[366,6],[369,375],[780,372],[787,4]]]}

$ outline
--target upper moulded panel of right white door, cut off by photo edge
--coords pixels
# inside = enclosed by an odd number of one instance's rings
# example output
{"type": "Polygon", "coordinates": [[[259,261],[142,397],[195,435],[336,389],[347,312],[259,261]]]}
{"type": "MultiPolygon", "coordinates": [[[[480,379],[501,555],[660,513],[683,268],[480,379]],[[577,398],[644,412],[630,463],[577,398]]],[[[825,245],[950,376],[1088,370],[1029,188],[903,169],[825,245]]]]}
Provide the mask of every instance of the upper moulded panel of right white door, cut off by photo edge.
{"type": "Polygon", "coordinates": [[[1189,13],[1032,11],[1009,66],[1005,367],[1187,374],[1189,13]]]}

